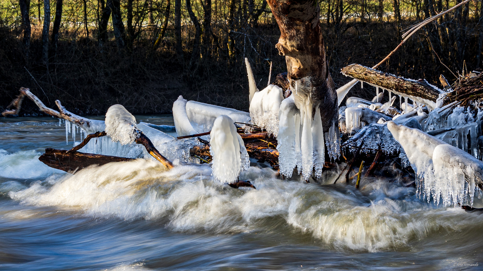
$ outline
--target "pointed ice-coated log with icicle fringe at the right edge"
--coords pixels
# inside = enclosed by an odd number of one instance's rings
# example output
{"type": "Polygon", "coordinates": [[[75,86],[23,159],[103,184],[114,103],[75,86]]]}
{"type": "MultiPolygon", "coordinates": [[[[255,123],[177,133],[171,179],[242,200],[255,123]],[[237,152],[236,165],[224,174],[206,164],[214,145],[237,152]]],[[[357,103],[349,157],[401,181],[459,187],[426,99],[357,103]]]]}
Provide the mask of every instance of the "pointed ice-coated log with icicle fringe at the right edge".
{"type": "Polygon", "coordinates": [[[446,206],[473,204],[475,183],[483,184],[483,163],[462,149],[417,129],[388,122],[387,127],[404,148],[417,173],[422,197],[446,206]]]}

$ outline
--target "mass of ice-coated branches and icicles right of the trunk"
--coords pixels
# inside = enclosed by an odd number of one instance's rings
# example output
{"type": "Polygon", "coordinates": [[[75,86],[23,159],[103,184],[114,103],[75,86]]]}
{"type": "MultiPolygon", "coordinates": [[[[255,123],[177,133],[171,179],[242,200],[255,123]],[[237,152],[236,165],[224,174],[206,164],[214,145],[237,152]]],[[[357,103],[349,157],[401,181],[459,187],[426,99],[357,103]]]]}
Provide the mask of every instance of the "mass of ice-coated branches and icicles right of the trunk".
{"type": "Polygon", "coordinates": [[[365,153],[399,152],[403,166],[411,165],[416,172],[422,198],[444,205],[472,205],[474,194],[481,197],[477,184],[483,181],[483,163],[478,160],[482,159],[478,142],[483,141],[479,137],[483,112],[456,102],[441,106],[444,92],[434,103],[387,91],[389,101],[384,104],[384,90],[379,92],[379,87],[371,101],[347,99],[339,110],[339,125],[352,137],[344,146],[365,153]],[[399,108],[394,105],[397,95],[399,108]]]}

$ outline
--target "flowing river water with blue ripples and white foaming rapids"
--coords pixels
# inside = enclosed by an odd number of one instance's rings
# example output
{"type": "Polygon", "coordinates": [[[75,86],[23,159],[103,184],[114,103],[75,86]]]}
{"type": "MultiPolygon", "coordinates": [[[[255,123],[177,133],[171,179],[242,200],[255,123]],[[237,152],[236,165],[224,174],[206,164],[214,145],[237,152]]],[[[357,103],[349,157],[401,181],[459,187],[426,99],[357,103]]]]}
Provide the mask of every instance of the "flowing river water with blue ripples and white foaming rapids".
{"type": "Polygon", "coordinates": [[[256,190],[235,190],[206,165],[136,160],[72,175],[39,162],[43,149],[72,143],[57,119],[0,118],[0,270],[483,266],[483,215],[423,202],[391,174],[355,190],[280,180],[259,164],[241,176],[256,190]]]}

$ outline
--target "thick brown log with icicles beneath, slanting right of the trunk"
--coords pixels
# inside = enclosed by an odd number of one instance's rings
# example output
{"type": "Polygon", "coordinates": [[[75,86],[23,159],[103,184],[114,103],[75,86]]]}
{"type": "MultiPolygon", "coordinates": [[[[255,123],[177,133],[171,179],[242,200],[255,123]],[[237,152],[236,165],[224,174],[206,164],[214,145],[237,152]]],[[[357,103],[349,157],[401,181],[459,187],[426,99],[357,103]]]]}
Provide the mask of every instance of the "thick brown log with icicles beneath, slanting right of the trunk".
{"type": "Polygon", "coordinates": [[[359,64],[351,64],[341,69],[342,74],[359,81],[381,87],[394,94],[408,97],[431,109],[436,108],[436,100],[441,93],[444,93],[436,86],[429,84],[426,80],[404,79],[389,73],[385,73],[359,64]]]}

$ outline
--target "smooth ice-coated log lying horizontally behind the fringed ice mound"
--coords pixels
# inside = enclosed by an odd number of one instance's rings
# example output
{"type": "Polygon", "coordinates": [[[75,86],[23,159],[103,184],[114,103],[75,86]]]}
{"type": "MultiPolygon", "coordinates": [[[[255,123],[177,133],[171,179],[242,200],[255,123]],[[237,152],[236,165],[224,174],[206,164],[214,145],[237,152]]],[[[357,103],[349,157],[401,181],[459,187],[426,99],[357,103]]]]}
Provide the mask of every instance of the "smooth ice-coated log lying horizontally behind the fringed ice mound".
{"type": "Polygon", "coordinates": [[[216,118],[221,115],[227,115],[233,122],[249,123],[251,121],[250,113],[233,108],[214,106],[195,101],[187,101],[185,107],[188,121],[198,133],[209,132],[216,118]]]}

